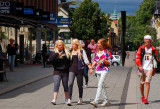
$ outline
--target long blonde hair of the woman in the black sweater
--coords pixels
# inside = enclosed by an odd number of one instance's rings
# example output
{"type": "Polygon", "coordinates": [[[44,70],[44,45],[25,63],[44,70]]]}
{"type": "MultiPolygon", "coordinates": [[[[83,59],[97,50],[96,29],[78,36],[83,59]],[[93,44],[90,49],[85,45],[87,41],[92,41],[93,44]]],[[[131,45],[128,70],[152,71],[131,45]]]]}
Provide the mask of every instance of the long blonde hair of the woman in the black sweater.
{"type": "Polygon", "coordinates": [[[57,41],[56,41],[55,47],[54,47],[54,51],[55,51],[56,53],[59,53],[59,50],[58,50],[58,44],[59,44],[59,43],[62,43],[62,44],[63,44],[65,54],[66,54],[67,58],[69,59],[69,57],[70,57],[69,50],[67,49],[65,43],[64,43],[62,40],[57,40],[57,41]]]}

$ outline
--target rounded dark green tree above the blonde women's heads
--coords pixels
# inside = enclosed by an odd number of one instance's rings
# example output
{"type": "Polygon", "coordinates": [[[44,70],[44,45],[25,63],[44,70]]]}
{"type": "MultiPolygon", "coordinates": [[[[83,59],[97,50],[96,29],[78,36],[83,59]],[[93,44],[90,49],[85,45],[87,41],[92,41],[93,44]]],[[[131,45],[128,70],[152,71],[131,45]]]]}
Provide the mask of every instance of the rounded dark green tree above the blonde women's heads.
{"type": "Polygon", "coordinates": [[[107,34],[107,18],[99,4],[84,0],[75,11],[69,10],[71,18],[70,35],[78,39],[99,39],[107,34]]]}

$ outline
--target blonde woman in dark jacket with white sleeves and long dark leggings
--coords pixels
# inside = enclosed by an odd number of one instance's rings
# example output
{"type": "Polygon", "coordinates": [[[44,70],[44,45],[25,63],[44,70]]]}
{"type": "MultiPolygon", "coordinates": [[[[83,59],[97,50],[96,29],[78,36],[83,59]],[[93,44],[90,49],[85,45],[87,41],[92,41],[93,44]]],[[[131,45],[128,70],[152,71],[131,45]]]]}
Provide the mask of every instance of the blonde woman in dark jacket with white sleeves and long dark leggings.
{"type": "Polygon", "coordinates": [[[68,105],[71,106],[71,99],[72,99],[72,91],[73,91],[73,83],[75,77],[77,78],[77,85],[79,89],[79,100],[78,104],[82,104],[82,95],[83,95],[83,71],[84,66],[88,65],[91,68],[91,65],[88,61],[86,52],[81,48],[78,39],[73,39],[72,41],[72,48],[71,51],[71,66],[69,71],[69,99],[68,105]]]}

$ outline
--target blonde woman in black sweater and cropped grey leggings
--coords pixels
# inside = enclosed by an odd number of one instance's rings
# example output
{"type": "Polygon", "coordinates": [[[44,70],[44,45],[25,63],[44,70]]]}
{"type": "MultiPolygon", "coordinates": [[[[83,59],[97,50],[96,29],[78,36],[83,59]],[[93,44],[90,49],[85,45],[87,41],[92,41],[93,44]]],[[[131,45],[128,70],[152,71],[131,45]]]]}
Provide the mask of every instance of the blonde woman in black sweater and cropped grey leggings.
{"type": "Polygon", "coordinates": [[[57,40],[55,44],[55,49],[49,60],[53,62],[54,73],[54,93],[52,104],[56,105],[56,99],[59,92],[60,82],[62,80],[64,93],[65,93],[65,103],[68,102],[68,75],[69,75],[69,65],[70,65],[70,53],[67,50],[64,42],[62,40],[57,40]]]}

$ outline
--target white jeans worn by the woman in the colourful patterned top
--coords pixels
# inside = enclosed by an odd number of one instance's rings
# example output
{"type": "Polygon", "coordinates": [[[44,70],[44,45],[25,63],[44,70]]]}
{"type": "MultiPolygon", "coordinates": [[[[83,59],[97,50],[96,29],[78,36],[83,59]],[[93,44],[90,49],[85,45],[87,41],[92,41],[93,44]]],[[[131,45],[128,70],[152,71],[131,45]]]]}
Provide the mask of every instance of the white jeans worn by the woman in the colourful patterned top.
{"type": "Polygon", "coordinates": [[[97,79],[98,79],[98,88],[97,88],[97,93],[96,93],[96,97],[94,99],[94,101],[96,103],[98,103],[98,100],[100,98],[100,95],[102,93],[103,97],[104,97],[104,101],[108,101],[108,96],[106,93],[106,88],[105,88],[105,78],[106,78],[106,74],[107,73],[101,73],[101,74],[97,74],[97,79]]]}

